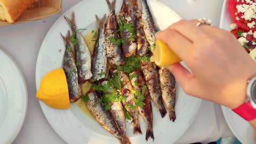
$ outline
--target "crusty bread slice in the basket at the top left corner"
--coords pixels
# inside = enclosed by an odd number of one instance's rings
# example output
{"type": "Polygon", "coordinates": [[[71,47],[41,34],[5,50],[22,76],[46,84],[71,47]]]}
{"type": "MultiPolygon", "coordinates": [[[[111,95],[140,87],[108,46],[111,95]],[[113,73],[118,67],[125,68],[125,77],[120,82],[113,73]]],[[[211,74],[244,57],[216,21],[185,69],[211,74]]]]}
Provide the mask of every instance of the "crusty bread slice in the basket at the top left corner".
{"type": "Polygon", "coordinates": [[[0,20],[13,23],[35,0],[0,0],[0,20]]]}

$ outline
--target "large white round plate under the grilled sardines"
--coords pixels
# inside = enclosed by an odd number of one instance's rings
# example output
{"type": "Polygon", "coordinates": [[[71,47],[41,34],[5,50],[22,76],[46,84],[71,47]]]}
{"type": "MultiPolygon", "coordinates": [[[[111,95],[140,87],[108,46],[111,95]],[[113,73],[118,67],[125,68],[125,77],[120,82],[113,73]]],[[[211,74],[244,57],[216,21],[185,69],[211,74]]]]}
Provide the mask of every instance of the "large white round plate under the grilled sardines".
{"type": "MultiPolygon", "coordinates": [[[[165,29],[171,23],[180,20],[180,17],[164,4],[150,0],[149,6],[153,10],[155,21],[159,28],[165,29]]],[[[121,9],[122,1],[118,0],[116,9],[121,9]]],[[[108,13],[108,6],[105,0],[83,1],[69,9],[64,15],[70,15],[72,11],[76,13],[78,28],[87,28],[83,34],[91,33],[96,28],[95,14],[102,17],[108,13]]],[[[37,90],[42,77],[49,71],[61,68],[64,54],[64,44],[60,37],[60,32],[67,33],[69,26],[63,15],[57,20],[46,35],[37,59],[36,86],[37,90]],[[58,50],[62,51],[59,52],[58,50]]],[[[201,105],[201,100],[189,97],[177,85],[176,112],[177,120],[170,122],[169,117],[161,118],[159,111],[153,105],[154,115],[154,136],[155,143],[174,143],[188,129],[193,122],[195,115],[201,105]]],[[[40,102],[43,112],[60,137],[68,143],[118,143],[109,132],[105,131],[94,119],[85,115],[71,105],[69,110],[57,110],[46,106],[40,102]]],[[[127,135],[132,143],[147,143],[145,140],[146,130],[143,119],[140,118],[143,135],[133,135],[132,125],[127,122],[127,135]]],[[[148,143],[153,143],[149,140],[148,143]]]]}

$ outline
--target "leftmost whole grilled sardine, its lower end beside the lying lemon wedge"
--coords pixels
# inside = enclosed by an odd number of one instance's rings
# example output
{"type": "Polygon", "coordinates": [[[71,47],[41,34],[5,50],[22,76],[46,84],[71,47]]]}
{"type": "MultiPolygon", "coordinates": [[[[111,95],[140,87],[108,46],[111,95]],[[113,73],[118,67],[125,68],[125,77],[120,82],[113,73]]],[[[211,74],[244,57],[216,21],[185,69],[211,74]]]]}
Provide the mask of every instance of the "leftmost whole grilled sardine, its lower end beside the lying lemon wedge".
{"type": "Polygon", "coordinates": [[[66,74],[67,82],[68,82],[68,92],[69,92],[69,101],[75,102],[78,100],[81,95],[82,91],[79,87],[78,80],[77,80],[77,69],[75,65],[75,57],[73,53],[73,49],[71,48],[70,44],[70,31],[66,37],[62,36],[63,41],[65,42],[66,51],[64,54],[63,60],[63,69],[66,74]]]}

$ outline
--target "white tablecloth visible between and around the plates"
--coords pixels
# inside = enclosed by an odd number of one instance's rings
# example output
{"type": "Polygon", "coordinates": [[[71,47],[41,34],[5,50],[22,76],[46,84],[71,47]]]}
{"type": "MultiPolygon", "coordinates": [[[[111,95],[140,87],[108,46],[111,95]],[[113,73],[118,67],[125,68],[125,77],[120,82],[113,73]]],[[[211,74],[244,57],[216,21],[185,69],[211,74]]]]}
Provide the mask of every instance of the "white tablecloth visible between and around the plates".
{"type": "MultiPolygon", "coordinates": [[[[63,0],[62,12],[80,1],[63,0]]],[[[160,1],[170,6],[184,19],[207,17],[212,19],[215,26],[219,26],[222,0],[160,1]]],[[[27,117],[17,139],[13,143],[65,143],[51,128],[42,113],[38,100],[35,98],[35,67],[38,51],[47,31],[60,15],[57,14],[50,18],[20,25],[0,27],[0,47],[9,52],[18,63],[28,86],[27,117]]],[[[215,141],[220,137],[230,137],[232,135],[220,106],[203,101],[194,123],[177,143],[215,141]]]]}

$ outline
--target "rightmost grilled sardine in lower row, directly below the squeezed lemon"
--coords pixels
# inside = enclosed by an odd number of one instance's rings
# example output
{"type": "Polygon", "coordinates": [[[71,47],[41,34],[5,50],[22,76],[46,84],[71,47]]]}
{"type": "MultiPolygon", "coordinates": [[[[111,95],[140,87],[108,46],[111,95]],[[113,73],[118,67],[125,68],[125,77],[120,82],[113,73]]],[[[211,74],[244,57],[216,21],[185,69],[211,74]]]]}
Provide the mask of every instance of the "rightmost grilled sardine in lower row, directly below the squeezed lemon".
{"type": "Polygon", "coordinates": [[[166,69],[159,69],[162,98],[169,111],[170,121],[175,121],[175,78],[172,73],[166,69]]]}

